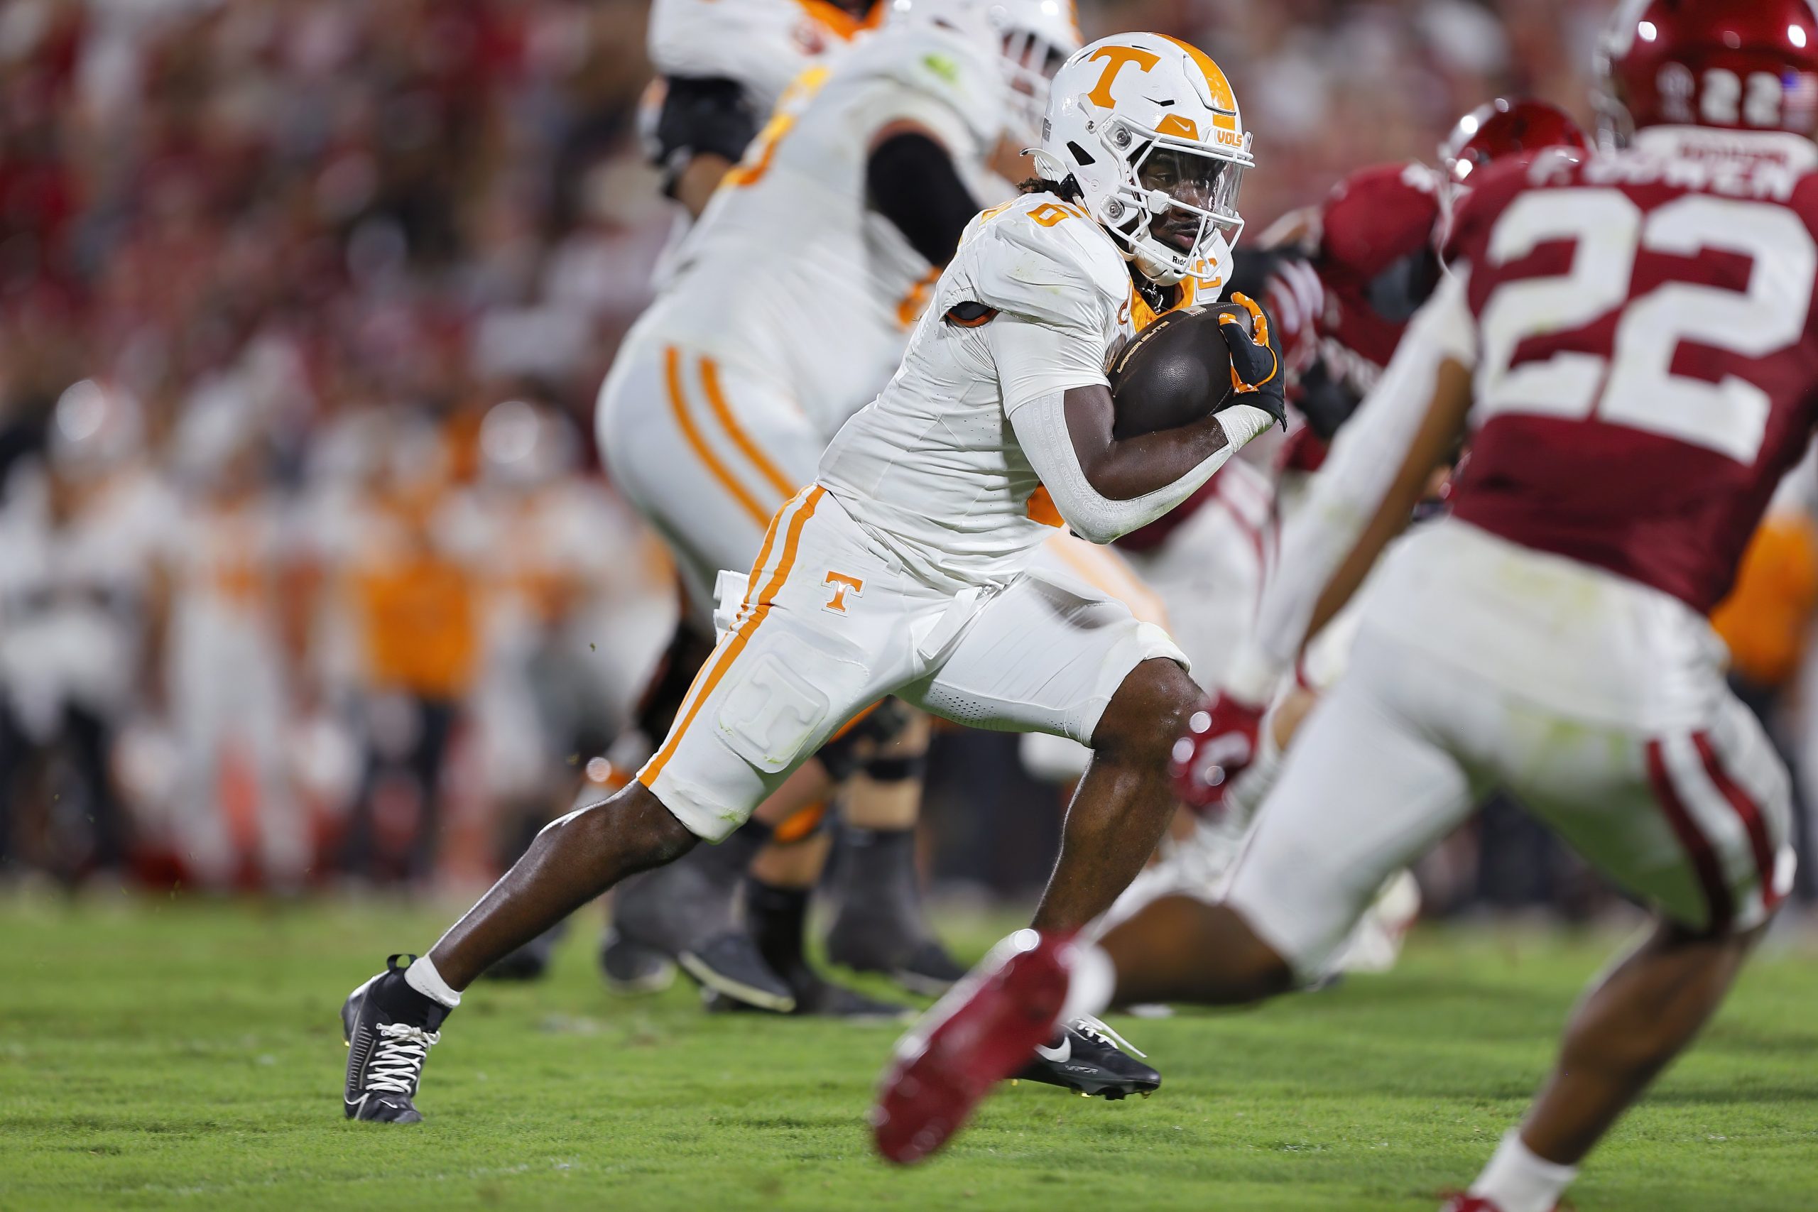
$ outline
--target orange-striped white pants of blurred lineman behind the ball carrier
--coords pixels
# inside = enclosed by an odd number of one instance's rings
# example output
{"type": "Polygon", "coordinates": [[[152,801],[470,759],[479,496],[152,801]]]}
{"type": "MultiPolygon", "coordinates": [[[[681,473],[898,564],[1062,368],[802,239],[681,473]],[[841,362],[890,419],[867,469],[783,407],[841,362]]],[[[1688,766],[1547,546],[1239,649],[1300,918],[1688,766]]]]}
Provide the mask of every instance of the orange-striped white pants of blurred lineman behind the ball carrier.
{"type": "Polygon", "coordinates": [[[674,554],[702,629],[720,571],[751,567],[825,447],[773,376],[636,327],[600,387],[594,431],[613,483],[674,554]]]}

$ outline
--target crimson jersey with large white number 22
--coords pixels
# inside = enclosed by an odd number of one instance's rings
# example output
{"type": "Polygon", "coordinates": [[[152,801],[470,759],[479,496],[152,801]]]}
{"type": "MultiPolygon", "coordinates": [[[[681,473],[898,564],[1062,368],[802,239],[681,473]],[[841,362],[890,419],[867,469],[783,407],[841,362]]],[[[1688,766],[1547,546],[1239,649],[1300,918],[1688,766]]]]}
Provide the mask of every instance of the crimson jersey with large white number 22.
{"type": "Polygon", "coordinates": [[[1494,165],[1460,205],[1478,365],[1454,514],[1700,612],[1818,405],[1818,147],[1651,127],[1494,165]]]}

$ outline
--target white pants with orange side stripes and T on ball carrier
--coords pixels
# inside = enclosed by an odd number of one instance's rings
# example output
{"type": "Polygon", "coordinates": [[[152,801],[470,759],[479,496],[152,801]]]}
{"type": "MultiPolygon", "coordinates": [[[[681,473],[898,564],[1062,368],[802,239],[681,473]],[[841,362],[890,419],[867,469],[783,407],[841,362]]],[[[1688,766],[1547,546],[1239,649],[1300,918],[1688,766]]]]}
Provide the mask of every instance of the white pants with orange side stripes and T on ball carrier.
{"type": "Polygon", "coordinates": [[[725,634],[638,772],[709,841],[887,694],[971,727],[1089,743],[1136,665],[1187,663],[1165,631],[1078,578],[934,589],[822,485],[776,514],[751,576],[724,583],[725,634]]]}

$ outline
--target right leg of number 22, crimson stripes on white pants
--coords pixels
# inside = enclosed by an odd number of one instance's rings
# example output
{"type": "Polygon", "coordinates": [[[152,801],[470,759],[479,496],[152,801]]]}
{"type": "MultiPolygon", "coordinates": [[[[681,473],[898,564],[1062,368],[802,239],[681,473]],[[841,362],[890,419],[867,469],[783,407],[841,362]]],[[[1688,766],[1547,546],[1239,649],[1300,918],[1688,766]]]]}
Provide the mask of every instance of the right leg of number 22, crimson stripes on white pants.
{"type": "Polygon", "coordinates": [[[1722,687],[1705,729],[1622,738],[1582,729],[1514,790],[1660,918],[1565,1027],[1558,1061],[1471,1194],[1549,1212],[1578,1163],[1722,1005],[1793,883],[1791,781],[1722,687]],[[1611,758],[1616,758],[1614,763],[1611,758]]]}

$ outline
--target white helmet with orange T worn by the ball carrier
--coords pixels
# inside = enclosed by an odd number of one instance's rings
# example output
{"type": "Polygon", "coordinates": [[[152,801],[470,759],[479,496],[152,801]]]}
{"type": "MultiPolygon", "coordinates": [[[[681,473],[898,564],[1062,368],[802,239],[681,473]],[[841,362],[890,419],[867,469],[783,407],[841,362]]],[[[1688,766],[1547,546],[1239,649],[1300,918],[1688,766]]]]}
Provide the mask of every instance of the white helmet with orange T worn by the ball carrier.
{"type": "Polygon", "coordinates": [[[1204,51],[1134,33],[1074,53],[1054,75],[1034,162],[1047,180],[1078,184],[1080,204],[1151,282],[1216,289],[1229,278],[1238,187],[1256,160],[1231,82],[1204,51]]]}

